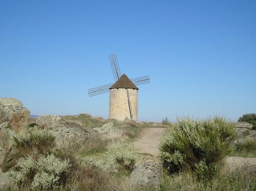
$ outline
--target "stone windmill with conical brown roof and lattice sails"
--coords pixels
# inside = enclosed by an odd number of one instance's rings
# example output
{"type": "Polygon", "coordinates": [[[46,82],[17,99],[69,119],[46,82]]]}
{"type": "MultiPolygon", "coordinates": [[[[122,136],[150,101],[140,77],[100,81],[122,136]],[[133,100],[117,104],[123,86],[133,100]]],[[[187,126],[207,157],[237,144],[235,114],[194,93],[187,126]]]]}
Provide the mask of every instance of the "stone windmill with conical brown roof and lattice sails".
{"type": "Polygon", "coordinates": [[[88,89],[90,97],[110,92],[109,118],[137,120],[138,85],[150,83],[149,76],[129,79],[120,72],[116,54],[110,54],[109,60],[115,83],[88,89]]]}

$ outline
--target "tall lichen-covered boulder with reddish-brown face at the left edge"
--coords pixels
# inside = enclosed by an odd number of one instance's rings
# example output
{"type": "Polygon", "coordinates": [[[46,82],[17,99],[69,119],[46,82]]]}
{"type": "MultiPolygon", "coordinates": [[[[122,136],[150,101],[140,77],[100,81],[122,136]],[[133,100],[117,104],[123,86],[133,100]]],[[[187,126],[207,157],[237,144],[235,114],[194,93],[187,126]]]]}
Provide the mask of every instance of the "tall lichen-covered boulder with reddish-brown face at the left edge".
{"type": "Polygon", "coordinates": [[[28,125],[29,110],[16,98],[0,98],[0,124],[9,123],[9,129],[19,132],[28,125]]]}

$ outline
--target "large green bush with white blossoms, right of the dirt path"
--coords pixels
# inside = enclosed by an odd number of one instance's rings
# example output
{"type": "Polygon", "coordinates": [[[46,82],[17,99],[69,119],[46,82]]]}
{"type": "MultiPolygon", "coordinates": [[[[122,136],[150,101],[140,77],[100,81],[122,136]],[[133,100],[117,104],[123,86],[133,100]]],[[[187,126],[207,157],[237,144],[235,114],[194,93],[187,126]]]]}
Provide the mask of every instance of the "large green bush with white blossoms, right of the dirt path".
{"type": "Polygon", "coordinates": [[[234,124],[223,118],[178,118],[159,143],[163,167],[169,173],[192,170],[208,179],[216,172],[215,163],[230,151],[233,135],[234,124]]]}

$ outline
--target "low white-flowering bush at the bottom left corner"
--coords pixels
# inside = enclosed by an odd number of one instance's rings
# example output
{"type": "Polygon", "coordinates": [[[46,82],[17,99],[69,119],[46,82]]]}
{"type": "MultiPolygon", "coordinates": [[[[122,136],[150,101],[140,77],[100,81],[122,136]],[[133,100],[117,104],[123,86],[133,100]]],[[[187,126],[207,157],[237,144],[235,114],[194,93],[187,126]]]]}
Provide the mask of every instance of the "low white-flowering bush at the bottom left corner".
{"type": "Polygon", "coordinates": [[[62,160],[53,154],[41,155],[38,160],[28,156],[19,158],[15,169],[7,175],[18,185],[48,190],[58,188],[70,167],[69,160],[62,160]]]}

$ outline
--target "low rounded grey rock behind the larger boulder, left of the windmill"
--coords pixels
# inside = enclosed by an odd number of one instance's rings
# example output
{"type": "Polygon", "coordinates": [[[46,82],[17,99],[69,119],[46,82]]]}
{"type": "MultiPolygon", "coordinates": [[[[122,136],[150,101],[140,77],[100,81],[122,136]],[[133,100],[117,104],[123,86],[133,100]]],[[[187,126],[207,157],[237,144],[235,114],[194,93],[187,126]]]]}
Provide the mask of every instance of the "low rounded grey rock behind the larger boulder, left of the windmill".
{"type": "Polygon", "coordinates": [[[45,115],[45,116],[38,117],[36,120],[36,124],[39,125],[40,127],[56,128],[56,127],[65,127],[66,122],[60,116],[45,115]]]}

